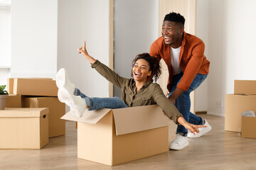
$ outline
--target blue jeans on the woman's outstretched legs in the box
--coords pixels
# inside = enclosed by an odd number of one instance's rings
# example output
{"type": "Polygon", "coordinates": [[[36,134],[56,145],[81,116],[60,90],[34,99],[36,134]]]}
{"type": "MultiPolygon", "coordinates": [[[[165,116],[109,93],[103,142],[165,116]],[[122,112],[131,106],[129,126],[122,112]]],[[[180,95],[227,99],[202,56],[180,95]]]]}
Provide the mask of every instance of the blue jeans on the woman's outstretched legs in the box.
{"type": "Polygon", "coordinates": [[[100,110],[102,108],[128,108],[128,106],[118,97],[112,98],[97,98],[97,97],[88,97],[79,89],[75,88],[75,96],[81,96],[85,99],[85,103],[88,107],[88,111],[100,110]]]}

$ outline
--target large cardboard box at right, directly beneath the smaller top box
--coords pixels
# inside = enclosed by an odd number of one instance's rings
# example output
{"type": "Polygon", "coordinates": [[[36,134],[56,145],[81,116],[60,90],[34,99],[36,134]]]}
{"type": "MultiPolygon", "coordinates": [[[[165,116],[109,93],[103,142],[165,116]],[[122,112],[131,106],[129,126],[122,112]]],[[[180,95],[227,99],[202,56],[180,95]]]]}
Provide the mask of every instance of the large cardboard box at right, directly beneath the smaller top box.
{"type": "Polygon", "coordinates": [[[241,132],[242,112],[256,113],[256,95],[225,95],[225,130],[241,132]]]}

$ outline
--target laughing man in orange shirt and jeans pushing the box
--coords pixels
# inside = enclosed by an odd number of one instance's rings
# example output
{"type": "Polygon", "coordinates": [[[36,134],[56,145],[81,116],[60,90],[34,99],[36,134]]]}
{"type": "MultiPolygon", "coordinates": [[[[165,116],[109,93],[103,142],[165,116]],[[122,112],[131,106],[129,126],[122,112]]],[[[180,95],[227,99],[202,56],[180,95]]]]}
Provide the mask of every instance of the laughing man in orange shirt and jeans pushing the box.
{"type": "Polygon", "coordinates": [[[169,69],[168,97],[188,123],[206,125],[193,135],[182,125],[178,125],[176,139],[170,149],[188,147],[188,137],[201,137],[211,130],[206,120],[190,112],[190,93],[207,77],[210,62],[204,56],[205,45],[202,40],[184,31],[185,18],[180,13],[169,13],[164,17],[162,36],[155,40],[149,54],[157,60],[163,59],[169,69]]]}

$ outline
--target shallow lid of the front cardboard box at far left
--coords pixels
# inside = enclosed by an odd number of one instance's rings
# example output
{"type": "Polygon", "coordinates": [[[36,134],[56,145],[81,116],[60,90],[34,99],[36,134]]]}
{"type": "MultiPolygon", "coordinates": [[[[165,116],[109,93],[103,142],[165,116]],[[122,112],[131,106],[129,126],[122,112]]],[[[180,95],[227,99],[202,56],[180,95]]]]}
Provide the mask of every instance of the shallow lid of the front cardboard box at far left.
{"type": "Polygon", "coordinates": [[[0,118],[34,118],[48,113],[48,108],[5,108],[0,110],[0,118]]]}

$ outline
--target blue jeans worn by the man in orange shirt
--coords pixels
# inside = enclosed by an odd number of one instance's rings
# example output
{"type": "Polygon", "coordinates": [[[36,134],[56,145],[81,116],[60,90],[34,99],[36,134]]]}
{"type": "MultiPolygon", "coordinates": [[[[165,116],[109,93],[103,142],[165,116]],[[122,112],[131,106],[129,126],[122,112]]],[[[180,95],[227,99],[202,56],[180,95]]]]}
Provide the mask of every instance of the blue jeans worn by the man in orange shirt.
{"type": "MultiPolygon", "coordinates": [[[[190,93],[191,91],[196,90],[196,88],[198,88],[198,86],[206,79],[207,76],[208,76],[207,74],[196,74],[196,77],[195,79],[193,79],[193,82],[191,83],[191,86],[189,87],[188,91],[184,91],[183,94],[181,94],[181,96],[176,98],[175,106],[188,123],[192,123],[194,125],[203,124],[202,118],[190,112],[190,109],[191,109],[190,93]]],[[[171,94],[174,92],[177,84],[181,81],[182,77],[183,77],[183,72],[174,75],[171,81],[171,86],[170,86],[171,89],[169,91],[168,97],[171,96],[171,94]]],[[[186,136],[187,133],[188,133],[188,130],[186,130],[186,128],[184,128],[183,125],[178,125],[176,134],[186,136]]]]}

